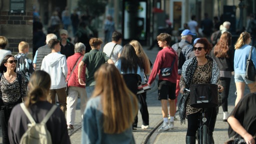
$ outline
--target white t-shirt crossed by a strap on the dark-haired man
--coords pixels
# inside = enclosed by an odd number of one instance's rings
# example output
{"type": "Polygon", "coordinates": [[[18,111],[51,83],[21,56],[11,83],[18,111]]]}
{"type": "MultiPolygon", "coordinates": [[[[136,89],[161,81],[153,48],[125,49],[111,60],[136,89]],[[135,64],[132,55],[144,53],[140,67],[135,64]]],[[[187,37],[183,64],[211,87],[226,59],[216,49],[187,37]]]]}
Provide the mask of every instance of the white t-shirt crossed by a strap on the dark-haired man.
{"type": "Polygon", "coordinates": [[[115,63],[115,61],[116,61],[117,58],[118,58],[118,54],[119,54],[119,53],[121,54],[121,52],[122,52],[122,46],[119,45],[119,44],[116,44],[115,46],[114,46],[114,45],[115,45],[114,42],[108,42],[108,43],[106,43],[106,44],[104,45],[104,47],[103,47],[103,52],[105,52],[107,56],[110,56],[111,51],[112,51],[112,49],[113,49],[113,47],[114,47],[114,50],[113,50],[113,53],[112,53],[110,59],[112,59],[113,62],[115,63]]]}

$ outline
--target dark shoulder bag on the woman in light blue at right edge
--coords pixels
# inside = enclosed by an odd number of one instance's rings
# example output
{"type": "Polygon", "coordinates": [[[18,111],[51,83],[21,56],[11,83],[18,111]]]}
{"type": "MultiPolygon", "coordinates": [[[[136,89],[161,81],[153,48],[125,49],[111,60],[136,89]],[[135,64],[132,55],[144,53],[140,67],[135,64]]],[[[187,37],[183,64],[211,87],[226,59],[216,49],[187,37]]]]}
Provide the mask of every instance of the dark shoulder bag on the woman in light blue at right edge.
{"type": "Polygon", "coordinates": [[[246,70],[245,70],[245,78],[251,81],[255,81],[255,66],[251,60],[251,53],[252,53],[253,46],[250,47],[250,52],[248,59],[246,60],[246,70]]]}

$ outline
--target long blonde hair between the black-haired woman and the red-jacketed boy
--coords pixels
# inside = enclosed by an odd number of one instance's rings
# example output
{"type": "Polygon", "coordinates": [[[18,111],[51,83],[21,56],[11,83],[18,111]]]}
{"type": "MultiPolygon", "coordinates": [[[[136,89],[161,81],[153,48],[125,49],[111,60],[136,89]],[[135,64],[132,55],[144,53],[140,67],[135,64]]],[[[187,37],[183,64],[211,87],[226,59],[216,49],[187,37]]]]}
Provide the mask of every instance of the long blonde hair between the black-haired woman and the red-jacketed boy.
{"type": "Polygon", "coordinates": [[[137,40],[131,40],[129,43],[134,47],[137,56],[141,59],[144,73],[147,75],[150,74],[151,72],[150,62],[141,44],[137,40]]]}

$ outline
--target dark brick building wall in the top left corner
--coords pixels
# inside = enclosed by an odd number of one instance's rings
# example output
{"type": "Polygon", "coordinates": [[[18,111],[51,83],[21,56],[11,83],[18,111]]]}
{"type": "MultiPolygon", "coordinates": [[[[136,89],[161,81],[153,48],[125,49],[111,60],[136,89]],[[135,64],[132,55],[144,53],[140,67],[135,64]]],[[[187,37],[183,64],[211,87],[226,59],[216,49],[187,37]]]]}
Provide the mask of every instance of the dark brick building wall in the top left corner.
{"type": "Polygon", "coordinates": [[[0,2],[0,35],[8,39],[5,49],[17,52],[18,43],[26,41],[32,47],[32,27],[33,27],[33,0],[25,0],[25,10],[23,13],[11,13],[9,10],[10,0],[0,2]]]}

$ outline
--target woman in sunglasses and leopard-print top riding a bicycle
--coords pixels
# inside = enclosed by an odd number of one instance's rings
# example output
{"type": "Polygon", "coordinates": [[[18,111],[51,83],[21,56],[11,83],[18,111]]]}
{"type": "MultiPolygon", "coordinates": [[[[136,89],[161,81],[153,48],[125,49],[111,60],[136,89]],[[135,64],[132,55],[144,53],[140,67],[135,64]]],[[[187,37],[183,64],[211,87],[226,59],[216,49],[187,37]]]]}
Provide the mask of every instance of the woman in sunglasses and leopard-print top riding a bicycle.
{"type": "MultiPolygon", "coordinates": [[[[195,134],[197,130],[198,116],[201,108],[195,108],[190,106],[189,93],[184,93],[184,88],[190,87],[191,84],[196,83],[212,83],[217,84],[219,92],[223,90],[219,80],[219,68],[214,59],[207,54],[212,49],[211,44],[206,38],[200,38],[194,44],[194,57],[186,60],[182,66],[182,73],[180,77],[179,86],[182,97],[179,102],[179,116],[180,122],[185,123],[187,118],[187,131],[186,131],[186,143],[195,143],[195,134]]],[[[214,130],[218,107],[205,108],[206,125],[209,127],[209,141],[214,143],[212,132],[214,130]]]]}

